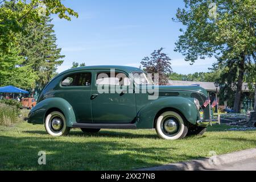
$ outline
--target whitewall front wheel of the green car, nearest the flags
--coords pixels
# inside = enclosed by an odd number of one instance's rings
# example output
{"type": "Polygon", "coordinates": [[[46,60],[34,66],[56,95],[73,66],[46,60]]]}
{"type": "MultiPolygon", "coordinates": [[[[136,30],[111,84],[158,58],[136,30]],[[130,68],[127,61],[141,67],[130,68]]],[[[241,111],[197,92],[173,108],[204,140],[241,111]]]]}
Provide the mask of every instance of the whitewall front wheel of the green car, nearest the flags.
{"type": "Polygon", "coordinates": [[[155,125],[158,136],[167,140],[184,138],[188,133],[185,119],[175,111],[165,111],[156,119],[155,125]]]}

